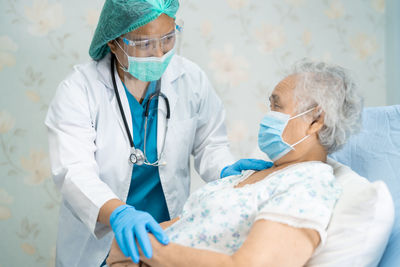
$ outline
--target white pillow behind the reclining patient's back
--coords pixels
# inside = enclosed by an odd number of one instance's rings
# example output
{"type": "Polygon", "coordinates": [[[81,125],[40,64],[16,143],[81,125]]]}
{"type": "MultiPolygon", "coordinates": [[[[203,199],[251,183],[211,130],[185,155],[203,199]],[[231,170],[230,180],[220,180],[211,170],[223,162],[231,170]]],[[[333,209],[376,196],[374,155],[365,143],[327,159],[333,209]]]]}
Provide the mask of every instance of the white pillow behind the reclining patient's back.
{"type": "Polygon", "coordinates": [[[326,243],[306,266],[377,266],[394,222],[390,192],[382,181],[371,183],[332,159],[328,164],[343,191],[328,226],[326,243]]]}

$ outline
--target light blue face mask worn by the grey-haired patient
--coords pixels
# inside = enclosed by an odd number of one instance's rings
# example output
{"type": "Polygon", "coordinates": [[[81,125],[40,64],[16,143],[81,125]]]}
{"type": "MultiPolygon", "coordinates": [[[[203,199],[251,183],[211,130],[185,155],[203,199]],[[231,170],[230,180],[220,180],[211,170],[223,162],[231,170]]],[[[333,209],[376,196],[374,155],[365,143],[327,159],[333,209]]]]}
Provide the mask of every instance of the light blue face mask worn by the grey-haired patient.
{"type": "Polygon", "coordinates": [[[290,120],[303,116],[312,110],[314,110],[314,108],[293,117],[282,112],[268,112],[261,120],[260,130],[258,132],[258,146],[261,151],[267,154],[272,161],[277,161],[290,151],[294,150],[294,146],[303,142],[309,137],[309,135],[306,135],[296,143],[289,145],[282,139],[283,131],[290,120]]]}

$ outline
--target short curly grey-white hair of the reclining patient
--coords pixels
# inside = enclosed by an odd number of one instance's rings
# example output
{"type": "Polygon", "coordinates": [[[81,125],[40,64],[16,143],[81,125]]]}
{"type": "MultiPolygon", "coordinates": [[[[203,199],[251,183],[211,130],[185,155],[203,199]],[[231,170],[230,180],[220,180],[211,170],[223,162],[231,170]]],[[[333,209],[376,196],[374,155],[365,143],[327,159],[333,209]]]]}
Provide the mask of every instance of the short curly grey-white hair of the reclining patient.
{"type": "Polygon", "coordinates": [[[290,75],[296,76],[296,111],[318,107],[320,112],[310,113],[317,117],[324,112],[319,141],[328,153],[340,149],[361,128],[363,99],[348,71],[337,65],[303,59],[294,64],[290,75]]]}

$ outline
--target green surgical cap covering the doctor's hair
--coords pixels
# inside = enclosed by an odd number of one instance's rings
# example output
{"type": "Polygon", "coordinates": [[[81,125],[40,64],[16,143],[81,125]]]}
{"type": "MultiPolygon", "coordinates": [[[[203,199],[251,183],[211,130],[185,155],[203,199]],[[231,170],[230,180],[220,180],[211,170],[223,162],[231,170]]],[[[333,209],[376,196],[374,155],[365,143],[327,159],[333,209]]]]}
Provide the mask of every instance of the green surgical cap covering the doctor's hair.
{"type": "Polygon", "coordinates": [[[162,13],[175,18],[178,0],[106,0],[90,44],[89,55],[100,60],[110,48],[107,43],[133,31],[162,13]]]}

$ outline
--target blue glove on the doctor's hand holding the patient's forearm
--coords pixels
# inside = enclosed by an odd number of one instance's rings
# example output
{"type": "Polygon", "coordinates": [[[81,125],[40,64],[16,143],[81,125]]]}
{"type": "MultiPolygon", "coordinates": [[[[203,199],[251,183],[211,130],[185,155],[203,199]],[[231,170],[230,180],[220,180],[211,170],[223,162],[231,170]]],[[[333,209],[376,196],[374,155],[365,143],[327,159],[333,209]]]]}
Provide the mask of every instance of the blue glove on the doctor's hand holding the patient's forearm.
{"type": "Polygon", "coordinates": [[[136,210],[129,205],[116,208],[111,213],[110,224],[122,253],[126,257],[131,257],[135,263],[139,262],[136,241],[147,258],[153,256],[148,232],[152,233],[160,243],[164,245],[169,243],[168,236],[149,213],[136,210]]]}

